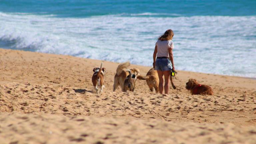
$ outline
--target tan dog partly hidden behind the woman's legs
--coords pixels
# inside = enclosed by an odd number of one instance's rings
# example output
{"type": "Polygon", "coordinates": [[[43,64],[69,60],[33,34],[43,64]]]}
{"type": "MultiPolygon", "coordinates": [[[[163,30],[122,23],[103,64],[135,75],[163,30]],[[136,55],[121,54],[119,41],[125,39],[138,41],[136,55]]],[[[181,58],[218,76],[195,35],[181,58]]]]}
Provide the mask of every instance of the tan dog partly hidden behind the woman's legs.
{"type": "MultiPolygon", "coordinates": [[[[151,68],[148,71],[148,73],[146,74],[146,76],[139,75],[137,78],[139,80],[146,80],[151,92],[153,92],[153,88],[155,89],[156,93],[159,92],[159,77],[158,77],[157,71],[154,70],[154,68],[151,68]]],[[[172,81],[172,76],[170,77],[170,81],[171,81],[173,89],[176,89],[176,86],[174,85],[174,83],[172,81]]]]}

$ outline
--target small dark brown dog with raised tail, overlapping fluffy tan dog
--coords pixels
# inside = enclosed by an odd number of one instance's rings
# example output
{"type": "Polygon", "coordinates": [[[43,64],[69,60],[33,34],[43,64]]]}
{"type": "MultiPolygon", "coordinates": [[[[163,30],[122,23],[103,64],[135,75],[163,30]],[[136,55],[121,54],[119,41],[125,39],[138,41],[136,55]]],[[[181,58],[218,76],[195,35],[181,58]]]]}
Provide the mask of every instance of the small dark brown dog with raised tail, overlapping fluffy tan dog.
{"type": "Polygon", "coordinates": [[[137,80],[137,77],[135,74],[131,73],[131,70],[128,70],[129,75],[124,81],[124,92],[127,92],[127,90],[134,92],[135,90],[135,82],[137,80]]]}

